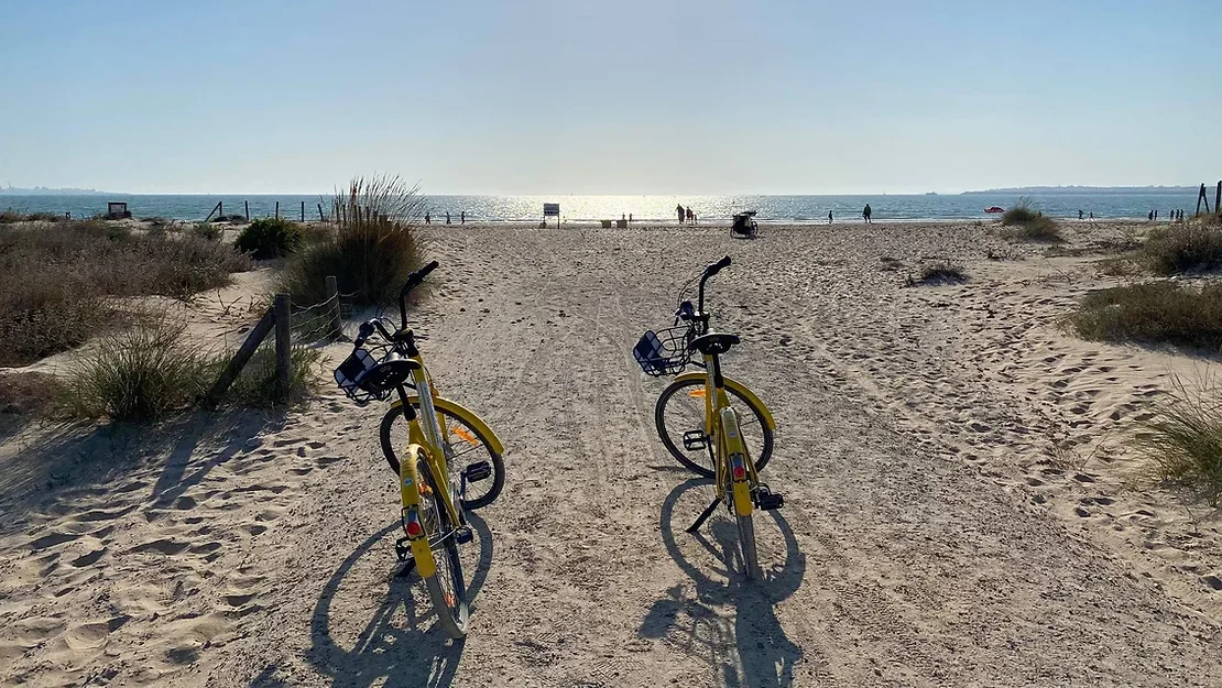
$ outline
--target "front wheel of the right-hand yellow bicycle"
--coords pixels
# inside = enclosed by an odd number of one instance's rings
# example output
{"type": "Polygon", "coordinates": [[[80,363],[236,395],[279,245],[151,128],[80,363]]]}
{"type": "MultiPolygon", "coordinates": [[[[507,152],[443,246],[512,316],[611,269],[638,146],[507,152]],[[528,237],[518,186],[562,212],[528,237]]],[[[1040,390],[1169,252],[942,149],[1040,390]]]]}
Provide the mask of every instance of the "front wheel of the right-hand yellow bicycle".
{"type": "MultiPolygon", "coordinates": [[[[712,478],[712,452],[708,448],[689,451],[683,446],[684,433],[704,431],[704,395],[703,379],[672,382],[657,397],[657,404],[654,407],[654,424],[657,426],[657,436],[661,437],[671,456],[692,472],[712,478]]],[[[732,387],[726,387],[726,395],[730,397],[730,406],[738,411],[738,430],[742,433],[747,451],[758,473],[772,458],[772,429],[764,419],[764,411],[750,400],[732,387]]],[[[714,440],[709,437],[708,441],[714,440]]]]}

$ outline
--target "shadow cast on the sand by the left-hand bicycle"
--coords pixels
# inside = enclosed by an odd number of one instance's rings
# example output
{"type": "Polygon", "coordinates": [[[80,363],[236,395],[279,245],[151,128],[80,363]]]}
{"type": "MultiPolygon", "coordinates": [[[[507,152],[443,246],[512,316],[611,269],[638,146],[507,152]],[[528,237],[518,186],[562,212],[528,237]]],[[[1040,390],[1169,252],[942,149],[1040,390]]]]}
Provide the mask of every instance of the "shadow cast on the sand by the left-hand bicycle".
{"type": "MultiPolygon", "coordinates": [[[[464,571],[470,580],[467,596],[472,613],[475,613],[475,599],[492,562],[492,533],[475,513],[468,512],[467,518],[479,540],[479,561],[472,573],[464,571]]],[[[332,678],[332,687],[446,688],[457,676],[466,642],[451,640],[433,624],[422,628],[422,622],[435,617],[435,612],[428,605],[417,610],[413,590],[423,590],[423,584],[414,573],[387,577],[386,596],[374,609],[349,649],[331,637],[331,605],[345,578],[364,555],[384,540],[389,544],[379,550],[392,551],[390,545],[398,528],[398,521],[386,524],[348,555],[326,582],[314,606],[310,648],[306,650],[306,659],[332,678]],[[403,623],[397,622],[400,612],[406,620],[403,623]]]]}

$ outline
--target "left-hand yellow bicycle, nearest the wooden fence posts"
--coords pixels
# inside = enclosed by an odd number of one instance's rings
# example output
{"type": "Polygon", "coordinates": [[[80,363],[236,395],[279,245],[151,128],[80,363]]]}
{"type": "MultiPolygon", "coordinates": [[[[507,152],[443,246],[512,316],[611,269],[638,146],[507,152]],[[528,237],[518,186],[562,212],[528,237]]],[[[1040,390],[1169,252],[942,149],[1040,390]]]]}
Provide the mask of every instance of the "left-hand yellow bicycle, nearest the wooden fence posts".
{"type": "Polygon", "coordinates": [[[382,418],[380,433],[382,453],[398,475],[402,502],[404,536],[395,550],[400,561],[419,572],[439,623],[457,639],[467,634],[469,613],[458,556],[458,545],[472,541],[466,510],[488,505],[500,494],[505,450],[478,415],[436,395],[415,346],[425,337],[407,328],[407,296],[436,268],[436,260],[429,263],[411,274],[400,290],[401,326],[382,318],[360,325],[352,354],[336,369],[335,380],[360,403],[398,396],[382,418]],[[380,340],[370,342],[375,335],[380,340]],[[408,387],[415,393],[409,395],[408,387]],[[397,426],[406,426],[400,452],[392,446],[397,426]],[[488,485],[485,491],[469,494],[480,484],[488,485]]]}

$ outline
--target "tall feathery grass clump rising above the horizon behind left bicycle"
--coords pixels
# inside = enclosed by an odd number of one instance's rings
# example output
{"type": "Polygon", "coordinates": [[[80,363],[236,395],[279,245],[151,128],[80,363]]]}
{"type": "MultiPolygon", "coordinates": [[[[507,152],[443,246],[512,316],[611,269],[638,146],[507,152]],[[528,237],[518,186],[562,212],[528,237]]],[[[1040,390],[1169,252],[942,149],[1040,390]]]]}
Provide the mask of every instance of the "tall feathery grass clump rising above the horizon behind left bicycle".
{"type": "Polygon", "coordinates": [[[332,200],[334,231],[292,257],[280,291],[298,303],[316,303],[326,298],[326,276],[335,275],[340,292],[353,293],[358,306],[391,302],[424,260],[417,229],[423,205],[418,189],[398,177],[353,180],[332,200]]]}

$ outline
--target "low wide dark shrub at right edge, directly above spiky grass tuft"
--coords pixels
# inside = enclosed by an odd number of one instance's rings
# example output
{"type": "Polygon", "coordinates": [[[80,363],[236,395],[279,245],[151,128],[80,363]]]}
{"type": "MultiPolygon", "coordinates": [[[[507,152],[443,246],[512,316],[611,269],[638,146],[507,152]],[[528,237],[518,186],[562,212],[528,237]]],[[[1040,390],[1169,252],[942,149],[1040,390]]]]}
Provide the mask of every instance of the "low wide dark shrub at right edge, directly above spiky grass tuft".
{"type": "Polygon", "coordinates": [[[1222,347],[1222,284],[1201,288],[1158,281],[1091,292],[1069,315],[1081,337],[1222,347]]]}

